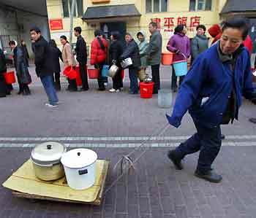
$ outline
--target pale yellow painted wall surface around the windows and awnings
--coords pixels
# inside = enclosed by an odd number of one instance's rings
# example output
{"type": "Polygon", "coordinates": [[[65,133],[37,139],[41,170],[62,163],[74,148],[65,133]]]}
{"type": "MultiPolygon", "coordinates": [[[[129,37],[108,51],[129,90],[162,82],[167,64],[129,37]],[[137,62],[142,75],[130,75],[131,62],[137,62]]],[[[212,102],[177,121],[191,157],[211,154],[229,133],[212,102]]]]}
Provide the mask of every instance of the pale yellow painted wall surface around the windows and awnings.
{"type": "MultiPolygon", "coordinates": [[[[213,7],[211,11],[198,11],[189,12],[189,0],[170,0],[168,1],[167,11],[159,13],[146,13],[146,0],[110,0],[107,4],[92,4],[91,0],[83,0],[83,11],[86,11],[86,7],[97,7],[102,5],[120,5],[120,4],[135,4],[138,11],[142,15],[140,19],[125,19],[127,21],[127,31],[132,35],[136,35],[139,30],[143,30],[147,33],[148,37],[148,23],[151,22],[151,18],[159,17],[161,19],[161,26],[164,27],[165,17],[174,17],[174,25],[177,25],[177,17],[187,17],[187,25],[189,25],[190,17],[199,16],[200,23],[204,24],[206,28],[213,25],[214,23],[219,23],[219,12],[224,6],[226,0],[213,0],[213,7]]],[[[61,0],[47,0],[48,17],[51,18],[61,18],[63,17],[61,0]]],[[[64,30],[61,31],[51,31],[51,37],[59,41],[59,36],[61,34],[66,35],[69,38],[69,18],[62,18],[64,30]]],[[[124,19],[121,19],[124,21],[124,19]]],[[[106,20],[105,20],[106,21],[106,20]]],[[[99,28],[99,22],[94,23],[96,26],[91,27],[91,23],[86,23],[81,20],[80,17],[74,18],[74,26],[81,26],[83,29],[82,35],[86,39],[86,42],[90,44],[94,37],[94,30],[99,28]]],[[[171,33],[161,30],[163,36],[163,48],[170,38],[171,33]]],[[[188,31],[188,36],[195,36],[196,31],[188,31]]],[[[73,37],[73,42],[75,42],[75,37],[73,37]]],[[[59,44],[59,42],[58,42],[59,44]]]]}

